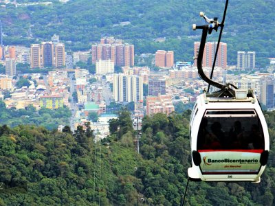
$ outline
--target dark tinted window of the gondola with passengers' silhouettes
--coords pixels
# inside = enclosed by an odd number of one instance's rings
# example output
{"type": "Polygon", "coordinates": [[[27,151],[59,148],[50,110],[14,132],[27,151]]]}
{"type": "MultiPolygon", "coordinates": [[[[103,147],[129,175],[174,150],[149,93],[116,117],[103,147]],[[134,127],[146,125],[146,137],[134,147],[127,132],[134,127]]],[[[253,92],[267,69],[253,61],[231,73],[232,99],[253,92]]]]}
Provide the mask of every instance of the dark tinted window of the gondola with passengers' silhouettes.
{"type": "Polygon", "coordinates": [[[240,112],[235,117],[233,112],[226,114],[211,111],[207,114],[208,116],[203,117],[199,126],[197,150],[264,148],[263,128],[258,117],[240,117],[240,112]]]}

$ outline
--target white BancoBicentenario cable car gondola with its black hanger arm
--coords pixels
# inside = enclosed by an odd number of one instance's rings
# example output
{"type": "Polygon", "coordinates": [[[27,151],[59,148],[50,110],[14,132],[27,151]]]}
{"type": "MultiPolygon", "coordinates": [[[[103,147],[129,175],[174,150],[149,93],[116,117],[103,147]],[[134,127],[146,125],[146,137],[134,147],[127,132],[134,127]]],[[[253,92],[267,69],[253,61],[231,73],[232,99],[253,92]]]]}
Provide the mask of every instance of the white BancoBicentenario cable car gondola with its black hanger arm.
{"type": "MultiPolygon", "coordinates": [[[[201,45],[197,68],[202,80],[219,91],[199,95],[190,117],[190,145],[192,167],[188,176],[192,181],[250,181],[259,183],[270,150],[267,124],[259,101],[250,90],[237,89],[233,84],[220,84],[208,78],[202,69],[207,34],[221,27],[217,50],[225,20],[200,16],[208,24],[193,25],[201,29],[201,45]]],[[[214,69],[217,51],[212,69],[214,69]]]]}

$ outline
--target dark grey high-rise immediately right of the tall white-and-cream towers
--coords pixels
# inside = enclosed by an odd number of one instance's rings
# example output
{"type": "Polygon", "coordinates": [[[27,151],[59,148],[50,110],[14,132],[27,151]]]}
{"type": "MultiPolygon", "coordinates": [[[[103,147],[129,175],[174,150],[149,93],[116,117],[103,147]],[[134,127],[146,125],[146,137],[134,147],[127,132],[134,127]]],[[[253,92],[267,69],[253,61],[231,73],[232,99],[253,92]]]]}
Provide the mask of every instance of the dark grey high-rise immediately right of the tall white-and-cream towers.
{"type": "Polygon", "coordinates": [[[158,96],[166,95],[166,81],[163,80],[148,80],[148,95],[158,96]]]}

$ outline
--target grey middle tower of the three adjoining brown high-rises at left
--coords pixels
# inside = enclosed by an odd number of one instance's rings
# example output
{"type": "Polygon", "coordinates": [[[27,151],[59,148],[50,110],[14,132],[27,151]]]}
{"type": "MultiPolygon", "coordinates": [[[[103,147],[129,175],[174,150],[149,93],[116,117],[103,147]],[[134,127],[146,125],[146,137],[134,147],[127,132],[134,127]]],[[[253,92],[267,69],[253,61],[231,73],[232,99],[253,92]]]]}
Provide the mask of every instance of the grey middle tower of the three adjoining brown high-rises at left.
{"type": "Polygon", "coordinates": [[[52,67],[54,65],[54,44],[52,42],[41,43],[41,65],[52,67]]]}

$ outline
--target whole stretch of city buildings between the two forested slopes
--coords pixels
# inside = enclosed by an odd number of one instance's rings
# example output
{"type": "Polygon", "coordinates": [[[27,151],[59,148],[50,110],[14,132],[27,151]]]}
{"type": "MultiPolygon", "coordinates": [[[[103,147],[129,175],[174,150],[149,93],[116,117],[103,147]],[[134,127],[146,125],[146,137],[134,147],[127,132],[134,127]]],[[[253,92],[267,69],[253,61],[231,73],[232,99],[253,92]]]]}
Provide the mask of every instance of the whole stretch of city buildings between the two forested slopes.
{"type": "MultiPolygon", "coordinates": [[[[195,56],[199,44],[194,43],[195,56]]],[[[203,71],[208,77],[216,49],[217,43],[206,43],[203,71]]],[[[144,60],[148,56],[154,54],[142,54],[140,58],[144,60]]],[[[174,64],[173,51],[157,50],[152,65],[160,67],[159,71],[150,67],[134,66],[134,58],[134,45],[113,37],[102,38],[100,43],[91,45],[89,51],[69,54],[65,52],[65,45],[60,43],[57,35],[52,36],[49,42],[33,44],[30,48],[2,45],[0,62],[5,65],[5,75],[0,76],[0,96],[9,108],[24,108],[32,104],[37,109],[56,109],[65,105],[73,113],[72,130],[79,125],[85,127],[90,122],[91,127],[102,135],[98,138],[102,138],[109,133],[109,119],[116,118],[115,115],[108,114],[110,102],[133,102],[133,126],[138,129],[142,126],[142,117],[145,114],[170,115],[177,104],[195,102],[197,95],[208,86],[198,76],[196,60],[194,64],[174,64]],[[89,60],[96,67],[95,74],[77,66],[78,62],[88,63],[89,60]],[[54,71],[45,69],[47,74],[21,73],[20,78],[28,79],[30,87],[17,88],[19,77],[16,65],[19,62],[30,64],[31,69],[50,67],[54,71]],[[121,72],[115,73],[115,68],[118,67],[121,67],[121,72]],[[10,91],[11,97],[4,99],[3,91],[10,91]],[[100,120],[92,122],[91,113],[96,113],[100,120]]],[[[237,62],[236,69],[254,69],[255,52],[238,52],[237,62]]],[[[273,74],[235,76],[234,71],[230,73],[225,68],[228,69],[227,44],[221,43],[212,78],[218,82],[232,82],[239,89],[254,89],[254,93],[267,108],[274,108],[273,74]]]]}

